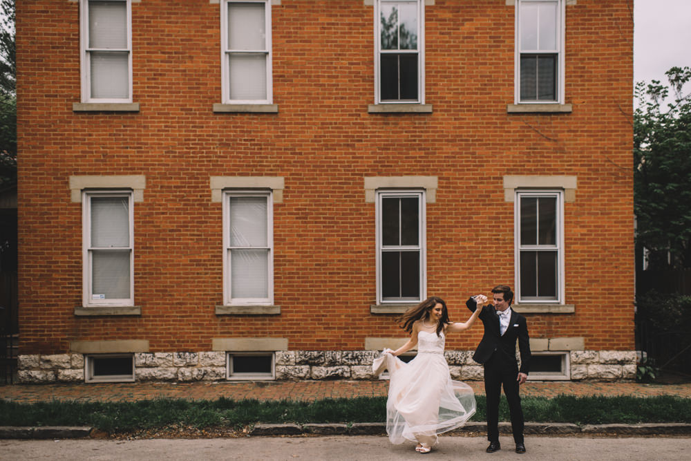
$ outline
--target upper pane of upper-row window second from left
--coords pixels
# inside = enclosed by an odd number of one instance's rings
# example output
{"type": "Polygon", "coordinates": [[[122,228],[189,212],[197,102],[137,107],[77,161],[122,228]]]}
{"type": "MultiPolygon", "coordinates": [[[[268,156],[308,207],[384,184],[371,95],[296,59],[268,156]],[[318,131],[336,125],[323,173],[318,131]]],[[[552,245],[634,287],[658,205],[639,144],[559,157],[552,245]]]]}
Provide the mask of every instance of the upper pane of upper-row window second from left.
{"type": "Polygon", "coordinates": [[[228,3],[228,49],[266,50],[264,3],[228,3]]]}

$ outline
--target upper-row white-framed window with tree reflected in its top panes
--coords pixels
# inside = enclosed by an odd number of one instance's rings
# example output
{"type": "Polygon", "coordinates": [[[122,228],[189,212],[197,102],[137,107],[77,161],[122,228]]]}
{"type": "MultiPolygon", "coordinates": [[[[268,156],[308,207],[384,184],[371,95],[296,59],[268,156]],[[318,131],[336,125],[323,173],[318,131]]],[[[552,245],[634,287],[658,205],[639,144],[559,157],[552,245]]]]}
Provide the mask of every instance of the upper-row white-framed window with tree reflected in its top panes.
{"type": "Polygon", "coordinates": [[[377,0],[375,44],[375,103],[424,104],[424,0],[377,0]]]}

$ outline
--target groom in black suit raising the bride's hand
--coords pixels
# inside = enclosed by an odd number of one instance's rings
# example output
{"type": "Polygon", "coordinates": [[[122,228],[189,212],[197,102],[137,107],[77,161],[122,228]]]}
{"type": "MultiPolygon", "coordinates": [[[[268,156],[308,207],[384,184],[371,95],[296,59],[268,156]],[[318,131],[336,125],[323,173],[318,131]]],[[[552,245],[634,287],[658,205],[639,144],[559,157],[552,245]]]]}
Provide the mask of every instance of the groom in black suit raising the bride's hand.
{"type": "MultiPolygon", "coordinates": [[[[528,378],[530,344],[528,326],[521,314],[511,309],[513,292],[507,285],[492,288],[494,305],[484,305],[480,319],[484,324],[482,341],[473,359],[484,365],[484,393],[487,402],[487,453],[501,450],[499,443],[499,399],[504,394],[509,401],[511,429],[516,453],[525,453],[523,440],[523,410],[518,389],[528,378]],[[516,339],[520,350],[520,370],[516,362],[516,339]]],[[[475,297],[466,301],[471,312],[477,309],[475,297]]]]}

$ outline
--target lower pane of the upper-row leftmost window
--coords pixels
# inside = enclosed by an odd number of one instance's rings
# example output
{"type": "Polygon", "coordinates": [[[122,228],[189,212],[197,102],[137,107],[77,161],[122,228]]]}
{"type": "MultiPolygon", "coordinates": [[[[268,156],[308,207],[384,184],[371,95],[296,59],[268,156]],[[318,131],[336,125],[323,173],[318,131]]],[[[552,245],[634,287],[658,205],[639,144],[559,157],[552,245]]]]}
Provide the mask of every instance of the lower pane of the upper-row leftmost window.
{"type": "Polygon", "coordinates": [[[129,98],[129,53],[89,53],[91,62],[91,97],[97,99],[129,98]]]}

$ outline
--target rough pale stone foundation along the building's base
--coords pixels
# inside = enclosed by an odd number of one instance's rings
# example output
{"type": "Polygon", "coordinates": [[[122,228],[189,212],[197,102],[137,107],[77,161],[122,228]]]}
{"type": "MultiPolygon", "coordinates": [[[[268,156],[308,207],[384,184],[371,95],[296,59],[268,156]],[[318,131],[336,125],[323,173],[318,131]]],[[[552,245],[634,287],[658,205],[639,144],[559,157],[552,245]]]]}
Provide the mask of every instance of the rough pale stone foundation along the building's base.
{"type": "MultiPolygon", "coordinates": [[[[276,380],[379,379],[372,373],[376,350],[280,350],[276,380]]],[[[481,380],[482,366],[471,350],[445,352],[451,377],[481,380]]],[[[225,352],[137,352],[135,381],[225,381],[225,352]]],[[[633,350],[572,350],[571,380],[630,381],[636,378],[633,350]]],[[[20,355],[17,373],[22,383],[84,382],[84,355],[20,355]]]]}

